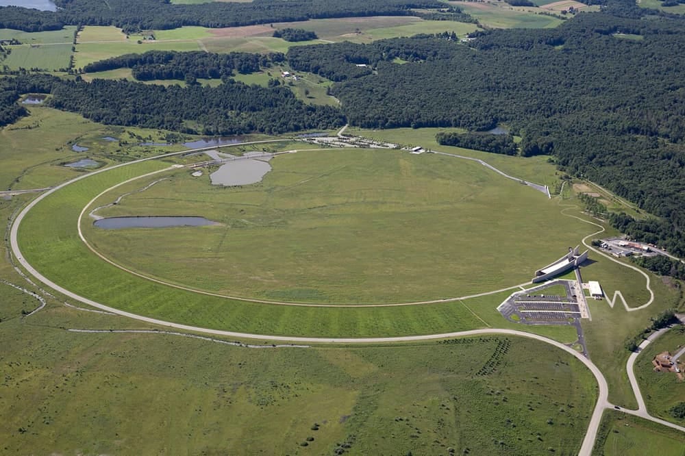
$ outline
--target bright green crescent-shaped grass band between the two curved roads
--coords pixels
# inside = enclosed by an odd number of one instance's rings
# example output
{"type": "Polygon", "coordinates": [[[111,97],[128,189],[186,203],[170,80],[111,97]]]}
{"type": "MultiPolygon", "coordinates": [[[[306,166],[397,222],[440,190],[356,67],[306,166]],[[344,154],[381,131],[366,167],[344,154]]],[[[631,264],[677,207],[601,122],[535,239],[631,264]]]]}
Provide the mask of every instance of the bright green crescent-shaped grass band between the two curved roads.
{"type": "MultiPolygon", "coordinates": [[[[286,307],[232,301],[162,286],[125,273],[90,253],[77,236],[82,207],[105,188],[166,166],[145,162],[101,173],[50,195],[18,233],[25,258],[64,288],[128,312],[188,325],[273,335],[364,337],[481,327],[459,303],[412,307],[286,307]]],[[[170,240],[173,242],[173,239],[170,240]]],[[[163,261],[160,253],[160,261],[163,261]]]]}

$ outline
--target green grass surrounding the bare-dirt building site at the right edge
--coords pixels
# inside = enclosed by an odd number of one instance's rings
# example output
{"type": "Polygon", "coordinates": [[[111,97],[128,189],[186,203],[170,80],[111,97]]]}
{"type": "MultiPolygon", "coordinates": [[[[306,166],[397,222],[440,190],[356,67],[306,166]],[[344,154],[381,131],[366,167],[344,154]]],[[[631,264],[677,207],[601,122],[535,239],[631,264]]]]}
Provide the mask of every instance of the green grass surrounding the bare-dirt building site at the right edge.
{"type": "MultiPolygon", "coordinates": [[[[664,351],[675,355],[685,344],[684,328],[682,325],[677,326],[651,342],[635,363],[635,376],[640,383],[649,413],[680,425],[685,425],[685,420],[679,422],[669,414],[669,409],[679,402],[685,402],[685,384],[673,372],[654,372],[651,360],[664,351]]],[[[684,359],[681,358],[681,362],[684,359]]]]}

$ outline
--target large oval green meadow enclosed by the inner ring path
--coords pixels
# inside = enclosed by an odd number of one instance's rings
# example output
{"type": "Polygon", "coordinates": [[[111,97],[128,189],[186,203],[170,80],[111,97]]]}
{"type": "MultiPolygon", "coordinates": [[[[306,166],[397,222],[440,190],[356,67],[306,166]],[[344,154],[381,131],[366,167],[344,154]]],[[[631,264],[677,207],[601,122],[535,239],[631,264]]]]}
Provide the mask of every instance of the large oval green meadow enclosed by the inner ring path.
{"type": "MultiPolygon", "coordinates": [[[[127,268],[192,288],[244,298],[355,304],[443,299],[513,286],[530,280],[532,265],[546,264],[577,243],[580,233],[590,232],[562,216],[545,195],[449,157],[321,151],[276,157],[272,165],[261,185],[237,189],[216,188],[208,178],[181,171],[99,212],[199,214],[223,224],[174,230],[163,266],[153,252],[166,244],[166,230],[85,227],[87,236],[127,268]],[[516,233],[532,234],[540,225],[557,227],[554,236],[527,249],[516,233]],[[121,245],[128,248],[122,251],[121,245]],[[501,262],[510,267],[493,268],[501,262]],[[197,282],[186,280],[189,266],[197,282]]],[[[131,183],[95,205],[145,185],[131,183]]]]}

